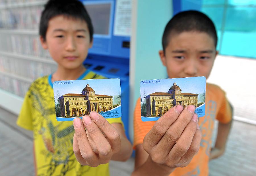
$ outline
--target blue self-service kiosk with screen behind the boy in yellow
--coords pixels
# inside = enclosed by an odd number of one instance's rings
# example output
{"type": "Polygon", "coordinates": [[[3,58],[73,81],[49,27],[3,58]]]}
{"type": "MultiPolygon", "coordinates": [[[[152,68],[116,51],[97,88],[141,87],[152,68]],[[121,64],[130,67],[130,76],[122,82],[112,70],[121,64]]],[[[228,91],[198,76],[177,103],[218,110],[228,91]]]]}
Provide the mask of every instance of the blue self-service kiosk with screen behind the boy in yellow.
{"type": "Polygon", "coordinates": [[[129,55],[131,0],[81,0],[94,27],[86,68],[121,80],[122,121],[129,138],[129,55]]]}

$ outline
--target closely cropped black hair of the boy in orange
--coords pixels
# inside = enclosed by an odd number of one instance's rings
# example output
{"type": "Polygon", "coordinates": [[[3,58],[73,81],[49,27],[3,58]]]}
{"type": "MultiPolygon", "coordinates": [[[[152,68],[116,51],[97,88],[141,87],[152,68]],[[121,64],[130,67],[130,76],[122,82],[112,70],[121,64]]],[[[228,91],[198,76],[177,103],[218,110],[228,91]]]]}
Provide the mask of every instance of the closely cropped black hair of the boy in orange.
{"type": "Polygon", "coordinates": [[[217,33],[212,20],[204,13],[196,10],[179,12],[167,23],[162,37],[163,50],[170,42],[170,34],[179,34],[182,32],[198,31],[205,32],[214,40],[215,48],[217,46],[217,33]]]}

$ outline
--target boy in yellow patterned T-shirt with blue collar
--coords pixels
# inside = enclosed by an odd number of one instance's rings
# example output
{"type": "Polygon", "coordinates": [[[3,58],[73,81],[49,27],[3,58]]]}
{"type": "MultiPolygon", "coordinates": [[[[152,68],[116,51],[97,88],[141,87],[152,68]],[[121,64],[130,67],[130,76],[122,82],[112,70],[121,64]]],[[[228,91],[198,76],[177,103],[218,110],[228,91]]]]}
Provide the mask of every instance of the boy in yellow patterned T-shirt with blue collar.
{"type": "Polygon", "coordinates": [[[53,81],[104,79],[82,64],[93,42],[90,17],[80,1],[50,0],[42,12],[39,30],[43,48],[49,50],[58,67],[55,73],[31,84],[17,120],[19,126],[34,132],[36,175],[109,175],[109,160],[125,161],[132,152],[121,118],[106,120],[91,112],[83,120],[58,122],[55,114],[53,81]],[[79,134],[84,130],[82,123],[87,135],[79,134]],[[91,152],[87,156],[97,160],[89,158],[82,166],[76,160],[80,155],[76,148],[74,154],[73,142],[85,139],[90,141],[85,146],[91,152]],[[98,145],[99,141],[104,145],[98,145]]]}

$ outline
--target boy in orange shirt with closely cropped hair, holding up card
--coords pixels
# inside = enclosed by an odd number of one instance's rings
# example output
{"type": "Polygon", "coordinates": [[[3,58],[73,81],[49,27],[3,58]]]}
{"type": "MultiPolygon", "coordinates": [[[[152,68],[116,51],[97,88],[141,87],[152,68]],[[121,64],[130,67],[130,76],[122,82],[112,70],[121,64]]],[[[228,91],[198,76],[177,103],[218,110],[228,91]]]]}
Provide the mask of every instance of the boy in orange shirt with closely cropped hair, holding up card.
{"type": "MultiPolygon", "coordinates": [[[[166,25],[159,55],[169,78],[204,76],[207,79],[218,54],[216,45],[216,29],[210,18],[198,11],[184,11],[166,25]]],[[[193,105],[185,108],[176,105],[158,121],[142,122],[138,99],[134,113],[136,158],[132,175],[208,175],[209,160],[224,153],[232,107],[225,93],[208,83],[205,103],[205,116],[199,119],[193,105]],[[211,149],[215,119],[219,121],[218,135],[211,149]]]]}

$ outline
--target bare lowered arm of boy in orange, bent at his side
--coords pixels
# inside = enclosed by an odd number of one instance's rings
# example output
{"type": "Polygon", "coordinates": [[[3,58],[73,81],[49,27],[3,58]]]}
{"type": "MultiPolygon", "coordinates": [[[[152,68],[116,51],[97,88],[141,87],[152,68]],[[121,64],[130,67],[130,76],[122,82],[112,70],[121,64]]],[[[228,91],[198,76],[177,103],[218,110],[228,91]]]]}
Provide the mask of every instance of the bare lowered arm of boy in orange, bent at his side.
{"type": "MultiPolygon", "coordinates": [[[[230,105],[231,112],[233,112],[233,108],[230,105]]],[[[232,117],[232,113],[231,113],[232,117]]],[[[228,134],[230,132],[232,125],[232,118],[229,123],[218,123],[218,133],[217,133],[217,138],[215,142],[214,148],[212,148],[211,153],[210,153],[210,160],[214,158],[218,158],[219,156],[224,154],[225,147],[226,147],[226,142],[228,139],[228,134]]]]}

